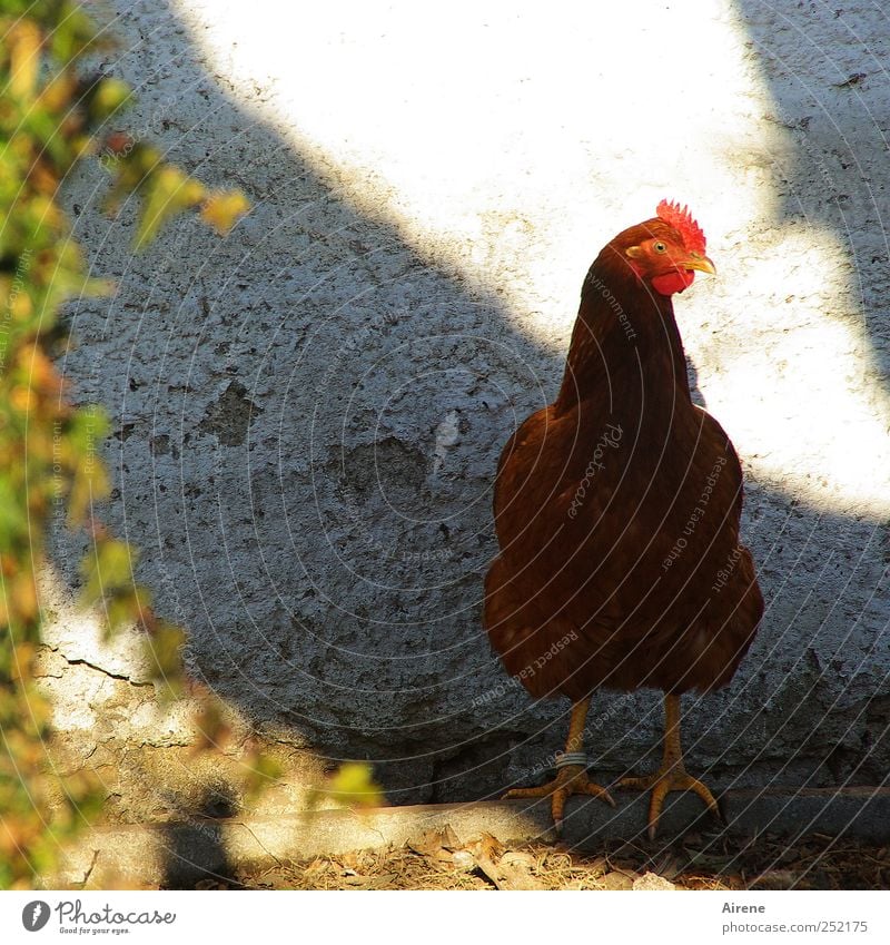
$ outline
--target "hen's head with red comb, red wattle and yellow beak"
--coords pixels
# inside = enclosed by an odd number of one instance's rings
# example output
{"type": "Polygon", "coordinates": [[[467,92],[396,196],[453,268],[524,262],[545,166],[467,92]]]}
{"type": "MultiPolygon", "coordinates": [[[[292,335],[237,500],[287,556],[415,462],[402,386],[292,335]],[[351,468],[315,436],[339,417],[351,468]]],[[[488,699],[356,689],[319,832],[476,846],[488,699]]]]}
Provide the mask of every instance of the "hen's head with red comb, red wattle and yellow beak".
{"type": "Polygon", "coordinates": [[[673,295],[692,285],[696,269],[714,275],[714,264],[704,255],[704,233],[689,207],[662,200],[656,213],[619,237],[636,277],[661,295],[673,295]]]}

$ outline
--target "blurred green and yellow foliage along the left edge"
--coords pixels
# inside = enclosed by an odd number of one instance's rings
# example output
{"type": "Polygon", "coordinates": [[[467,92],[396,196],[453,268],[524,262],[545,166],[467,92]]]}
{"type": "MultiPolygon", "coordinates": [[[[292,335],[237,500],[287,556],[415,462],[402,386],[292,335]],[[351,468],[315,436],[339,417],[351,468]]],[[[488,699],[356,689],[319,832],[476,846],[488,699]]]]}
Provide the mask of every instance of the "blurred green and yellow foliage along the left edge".
{"type": "MultiPolygon", "coordinates": [[[[165,161],[145,140],[111,124],[131,99],[120,80],[90,75],[85,57],[109,46],[72,0],[0,0],[0,888],[24,888],[51,870],[60,847],[101,807],[86,775],[60,785],[47,762],[50,706],[33,661],[41,640],[37,575],[50,518],[65,509],[91,538],[83,564],[85,603],[107,614],[109,632],[144,631],[161,696],[181,695],[181,628],[158,618],[134,579],[136,552],[97,520],[108,494],[99,444],[108,422],[99,407],[75,408],[52,362],[59,309],[71,298],[106,294],[88,278],[59,196],[85,159],[109,173],[108,207],[140,198],[135,246],[166,220],[196,208],[220,233],[247,209],[239,193],[212,193],[165,161]]],[[[199,726],[206,748],[225,735],[209,698],[199,726]]],[[[246,765],[256,787],[274,775],[259,754],[246,765]]],[[[249,778],[248,778],[249,780],[249,778]]]]}

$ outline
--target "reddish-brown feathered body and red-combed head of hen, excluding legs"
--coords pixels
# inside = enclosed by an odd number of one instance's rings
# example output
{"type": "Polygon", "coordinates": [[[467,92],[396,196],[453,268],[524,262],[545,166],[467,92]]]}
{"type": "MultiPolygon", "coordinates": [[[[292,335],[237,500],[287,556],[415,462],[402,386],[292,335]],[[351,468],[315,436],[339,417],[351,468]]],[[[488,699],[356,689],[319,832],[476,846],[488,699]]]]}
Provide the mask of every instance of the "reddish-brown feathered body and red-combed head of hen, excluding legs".
{"type": "MultiPolygon", "coordinates": [[[[497,469],[491,642],[533,696],[584,711],[600,686],[671,698],[725,686],[763,611],[739,538],[739,459],[692,402],[671,301],[713,265],[689,215],[659,209],[596,257],[558,396],[520,426],[497,469]]],[[[558,821],[556,807],[554,795],[558,821]]],[[[654,810],[653,830],[656,820],[654,810]]]]}

